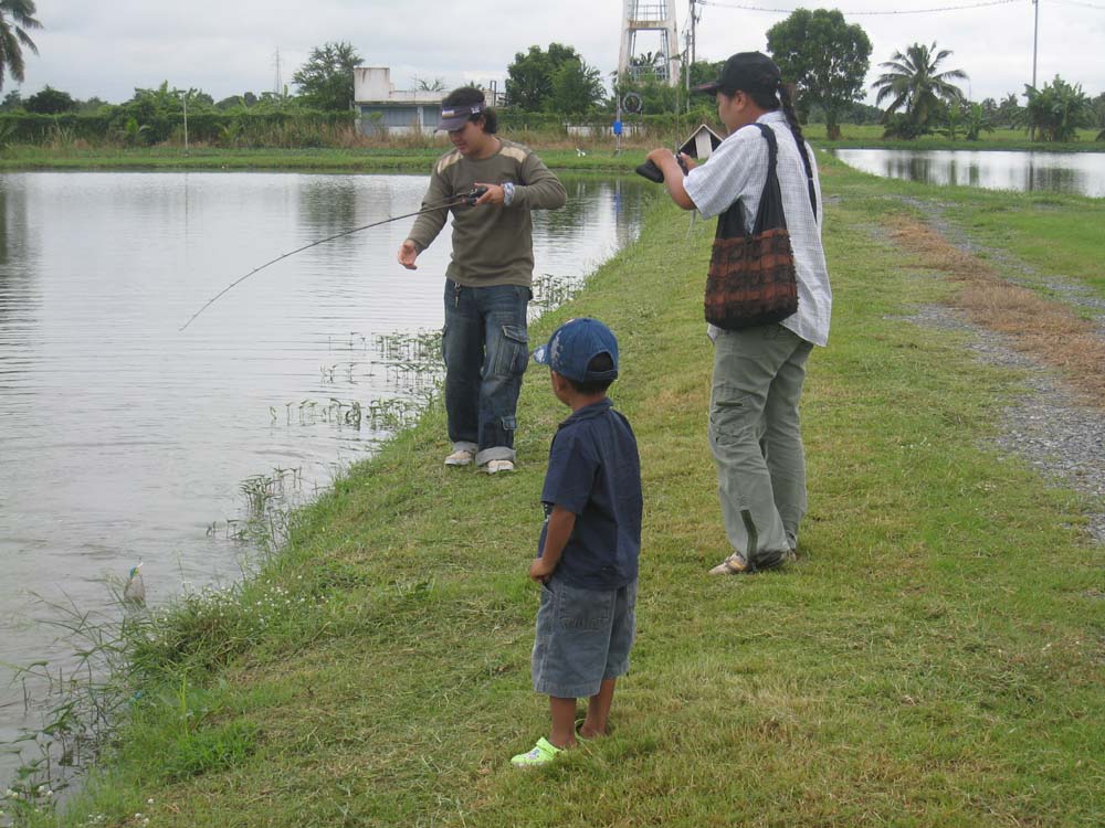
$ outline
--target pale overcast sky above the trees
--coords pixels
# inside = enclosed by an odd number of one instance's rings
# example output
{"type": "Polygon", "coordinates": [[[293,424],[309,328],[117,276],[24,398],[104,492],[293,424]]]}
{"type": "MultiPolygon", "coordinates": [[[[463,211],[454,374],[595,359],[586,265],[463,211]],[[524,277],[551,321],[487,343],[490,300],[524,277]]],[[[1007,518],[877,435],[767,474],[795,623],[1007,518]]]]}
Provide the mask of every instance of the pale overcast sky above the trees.
{"type": "MultiPolygon", "coordinates": [[[[662,0],[645,0],[659,4],[662,0]]],[[[871,38],[869,83],[894,50],[936,41],[954,52],[943,64],[970,75],[976,100],[1022,93],[1032,79],[1031,0],[846,0],[839,7],[871,38]],[[863,14],[954,8],[932,13],[863,14]]],[[[792,0],[713,0],[699,6],[697,56],[766,50],[766,32],[798,8],[792,0]],[[782,10],[753,11],[739,6],[782,10]]],[[[682,40],[687,0],[674,0],[682,40]]],[[[807,3],[806,8],[821,8],[807,3]]],[[[276,53],[285,84],[313,46],[349,41],[365,65],[390,66],[400,88],[413,77],[497,81],[532,44],[558,41],[600,68],[618,62],[622,0],[507,2],[482,0],[38,0],[43,29],[31,32],[40,54],[27,54],[24,96],[49,84],[76,98],[126,100],[135,87],[196,87],[217,100],[276,87],[276,53]]],[[[641,33],[638,52],[659,40],[641,33]]],[[[1105,0],[1040,0],[1039,85],[1056,74],[1090,95],[1105,92],[1105,0]]],[[[10,78],[3,92],[17,88],[10,78]]],[[[1023,103],[1023,100],[1022,100],[1023,103]]]]}

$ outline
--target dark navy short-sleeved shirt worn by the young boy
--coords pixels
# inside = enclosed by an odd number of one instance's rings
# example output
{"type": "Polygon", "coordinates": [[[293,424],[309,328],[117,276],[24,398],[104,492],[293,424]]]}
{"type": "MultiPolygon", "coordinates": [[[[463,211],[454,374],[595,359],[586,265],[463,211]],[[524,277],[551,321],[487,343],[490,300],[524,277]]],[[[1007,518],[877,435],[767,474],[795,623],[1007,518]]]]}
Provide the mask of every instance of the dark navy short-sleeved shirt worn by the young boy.
{"type": "Polygon", "coordinates": [[[548,516],[560,506],[576,516],[557,577],[586,590],[617,590],[636,577],[641,551],[641,459],[629,421],[609,399],[572,413],[549,448],[541,501],[545,549],[548,516]]]}

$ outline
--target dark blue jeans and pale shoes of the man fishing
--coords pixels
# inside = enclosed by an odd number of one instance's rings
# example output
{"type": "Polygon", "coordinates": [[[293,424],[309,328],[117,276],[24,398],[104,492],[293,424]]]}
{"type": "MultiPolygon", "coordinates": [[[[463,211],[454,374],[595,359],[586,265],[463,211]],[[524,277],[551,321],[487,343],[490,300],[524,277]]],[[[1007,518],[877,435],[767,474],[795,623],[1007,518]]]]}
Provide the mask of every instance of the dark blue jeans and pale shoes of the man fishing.
{"type": "Polygon", "coordinates": [[[465,287],[445,279],[445,413],[454,449],[476,464],[514,460],[515,412],[529,362],[522,285],[465,287]]]}

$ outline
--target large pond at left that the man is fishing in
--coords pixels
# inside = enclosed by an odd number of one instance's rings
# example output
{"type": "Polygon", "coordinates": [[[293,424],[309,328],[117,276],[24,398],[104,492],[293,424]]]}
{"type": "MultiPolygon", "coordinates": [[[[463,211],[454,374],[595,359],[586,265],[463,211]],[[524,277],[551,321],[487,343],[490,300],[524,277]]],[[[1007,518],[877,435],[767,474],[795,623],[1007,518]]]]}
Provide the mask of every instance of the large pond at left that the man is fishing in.
{"type": "MultiPolygon", "coordinates": [[[[635,237],[645,200],[634,180],[565,184],[568,206],[535,214],[534,314],[635,237]]],[[[408,219],[290,257],[179,328],[281,253],[417,210],[425,185],[0,176],[0,742],[36,724],[10,665],[70,651],[49,604],[105,609],[105,577],[139,561],[154,604],[233,580],[251,499],[311,498],[424,400],[449,227],[415,272],[394,259],[408,219]]]]}

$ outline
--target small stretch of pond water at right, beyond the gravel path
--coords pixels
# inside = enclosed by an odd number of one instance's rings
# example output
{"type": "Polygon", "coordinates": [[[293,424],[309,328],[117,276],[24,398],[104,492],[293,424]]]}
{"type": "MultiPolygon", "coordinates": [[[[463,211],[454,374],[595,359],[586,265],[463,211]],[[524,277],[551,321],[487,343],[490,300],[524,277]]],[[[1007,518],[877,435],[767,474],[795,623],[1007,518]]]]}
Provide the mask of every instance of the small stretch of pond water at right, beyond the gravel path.
{"type": "Polygon", "coordinates": [[[884,178],[1105,198],[1105,152],[836,149],[833,155],[884,178]]]}

